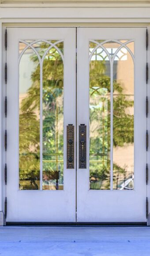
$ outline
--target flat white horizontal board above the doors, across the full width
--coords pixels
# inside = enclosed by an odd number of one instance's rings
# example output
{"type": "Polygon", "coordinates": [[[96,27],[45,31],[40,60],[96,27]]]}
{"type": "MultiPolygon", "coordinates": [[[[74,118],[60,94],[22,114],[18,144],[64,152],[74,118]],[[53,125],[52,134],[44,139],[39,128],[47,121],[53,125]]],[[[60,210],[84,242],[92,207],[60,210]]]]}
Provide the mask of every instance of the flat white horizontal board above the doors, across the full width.
{"type": "MultiPolygon", "coordinates": [[[[24,21],[25,23],[30,22],[34,23],[34,19],[38,20],[38,23],[48,22],[48,20],[54,19],[56,22],[63,22],[62,19],[70,20],[71,23],[75,23],[75,20],[80,20],[82,23],[97,23],[102,19],[104,23],[116,22],[116,20],[120,20],[120,22],[126,23],[143,23],[148,22],[150,19],[150,7],[143,8],[23,8],[23,7],[0,7],[0,19],[7,19],[8,23],[10,19],[18,19],[18,23],[21,23],[23,19],[32,19],[24,21]],[[88,21],[86,20],[88,19],[88,21]]],[[[37,22],[37,21],[35,21],[37,22]]]]}

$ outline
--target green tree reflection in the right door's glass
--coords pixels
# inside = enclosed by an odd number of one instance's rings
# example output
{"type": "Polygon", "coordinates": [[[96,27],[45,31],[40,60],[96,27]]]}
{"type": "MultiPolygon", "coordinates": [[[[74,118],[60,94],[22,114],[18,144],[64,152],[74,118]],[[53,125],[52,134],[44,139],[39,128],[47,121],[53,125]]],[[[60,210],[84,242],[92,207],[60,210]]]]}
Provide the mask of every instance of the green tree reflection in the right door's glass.
{"type": "MultiPolygon", "coordinates": [[[[134,116],[127,113],[134,101],[113,80],[113,147],[134,142],[134,116]]],[[[90,61],[90,188],[110,188],[110,76],[106,61],[90,61]]],[[[126,180],[126,168],[113,163],[113,179],[126,180]]]]}

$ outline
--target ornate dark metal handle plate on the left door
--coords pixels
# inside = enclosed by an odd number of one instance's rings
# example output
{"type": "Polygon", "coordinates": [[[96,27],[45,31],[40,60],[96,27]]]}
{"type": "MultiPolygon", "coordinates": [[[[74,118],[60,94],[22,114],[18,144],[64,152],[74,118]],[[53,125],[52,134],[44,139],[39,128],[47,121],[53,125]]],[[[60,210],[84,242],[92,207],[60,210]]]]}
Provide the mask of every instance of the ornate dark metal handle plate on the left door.
{"type": "Polygon", "coordinates": [[[75,127],[72,124],[67,125],[67,169],[75,168],[75,149],[74,149],[75,127]]]}

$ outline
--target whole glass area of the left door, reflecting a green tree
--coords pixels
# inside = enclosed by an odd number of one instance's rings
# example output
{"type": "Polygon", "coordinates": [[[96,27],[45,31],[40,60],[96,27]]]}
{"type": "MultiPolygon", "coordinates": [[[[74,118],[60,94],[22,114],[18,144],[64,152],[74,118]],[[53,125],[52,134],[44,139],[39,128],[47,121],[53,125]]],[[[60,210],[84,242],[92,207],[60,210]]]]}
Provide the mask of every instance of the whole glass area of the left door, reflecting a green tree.
{"type": "MultiPolygon", "coordinates": [[[[19,189],[40,189],[40,71],[42,72],[43,183],[41,189],[64,189],[64,70],[63,42],[49,49],[42,63],[40,57],[50,44],[22,41],[19,52],[32,43],[19,63],[19,189]],[[60,52],[59,52],[60,51],[60,52]],[[39,63],[39,61],[41,61],[39,63]],[[40,64],[41,68],[40,69],[40,64]]],[[[56,43],[55,40],[52,43],[56,43]]]]}

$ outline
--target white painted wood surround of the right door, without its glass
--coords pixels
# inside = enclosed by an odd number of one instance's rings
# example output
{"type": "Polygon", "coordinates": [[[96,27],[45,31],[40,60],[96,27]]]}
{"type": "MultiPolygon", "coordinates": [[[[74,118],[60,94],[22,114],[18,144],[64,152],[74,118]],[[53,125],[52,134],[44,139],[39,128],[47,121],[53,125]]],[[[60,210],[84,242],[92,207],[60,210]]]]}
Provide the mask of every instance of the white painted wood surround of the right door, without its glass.
{"type": "MultiPolygon", "coordinates": [[[[78,222],[146,222],[146,28],[77,29],[77,152],[79,124],[87,125],[87,169],[78,169],[78,222]],[[89,40],[135,41],[135,189],[89,190],[89,40]]],[[[125,71],[124,71],[125,72],[125,71]]]]}

